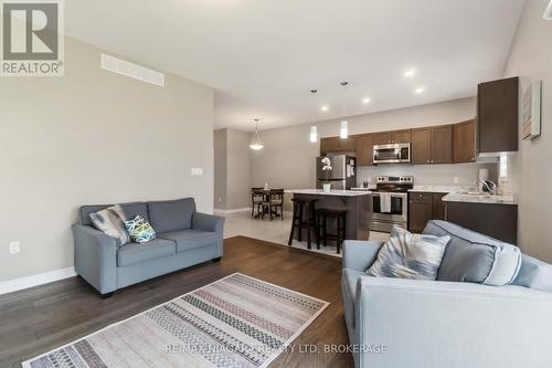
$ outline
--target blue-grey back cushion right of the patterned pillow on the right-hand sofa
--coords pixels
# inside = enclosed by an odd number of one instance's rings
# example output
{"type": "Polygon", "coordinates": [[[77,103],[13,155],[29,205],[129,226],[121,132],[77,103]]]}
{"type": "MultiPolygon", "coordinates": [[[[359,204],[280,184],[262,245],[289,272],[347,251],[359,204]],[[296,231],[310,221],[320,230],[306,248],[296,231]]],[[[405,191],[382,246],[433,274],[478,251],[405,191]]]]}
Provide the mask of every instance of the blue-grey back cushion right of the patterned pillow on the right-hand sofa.
{"type": "Polygon", "coordinates": [[[424,234],[449,235],[437,280],[501,286],[510,284],[521,265],[521,252],[511,244],[446,221],[429,221],[424,234]]]}

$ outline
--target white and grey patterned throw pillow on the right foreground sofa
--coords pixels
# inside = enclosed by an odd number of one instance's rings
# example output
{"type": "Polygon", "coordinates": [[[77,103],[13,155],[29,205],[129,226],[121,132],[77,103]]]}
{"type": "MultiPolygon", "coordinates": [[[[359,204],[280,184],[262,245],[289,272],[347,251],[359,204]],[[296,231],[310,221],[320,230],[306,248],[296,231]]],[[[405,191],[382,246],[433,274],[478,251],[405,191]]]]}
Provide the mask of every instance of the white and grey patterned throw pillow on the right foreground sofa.
{"type": "Polygon", "coordinates": [[[367,273],[371,276],[436,280],[450,236],[418,235],[393,227],[367,273]]]}

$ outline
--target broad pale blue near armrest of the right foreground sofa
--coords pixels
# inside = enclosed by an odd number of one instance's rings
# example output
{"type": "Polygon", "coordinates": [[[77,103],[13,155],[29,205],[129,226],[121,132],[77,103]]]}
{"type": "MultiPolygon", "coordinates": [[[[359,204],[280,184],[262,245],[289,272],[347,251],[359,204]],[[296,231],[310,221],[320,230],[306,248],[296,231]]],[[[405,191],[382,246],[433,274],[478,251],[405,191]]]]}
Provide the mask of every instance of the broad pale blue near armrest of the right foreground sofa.
{"type": "Polygon", "coordinates": [[[359,367],[552,367],[552,294],[361,276],[357,283],[359,367]]]}

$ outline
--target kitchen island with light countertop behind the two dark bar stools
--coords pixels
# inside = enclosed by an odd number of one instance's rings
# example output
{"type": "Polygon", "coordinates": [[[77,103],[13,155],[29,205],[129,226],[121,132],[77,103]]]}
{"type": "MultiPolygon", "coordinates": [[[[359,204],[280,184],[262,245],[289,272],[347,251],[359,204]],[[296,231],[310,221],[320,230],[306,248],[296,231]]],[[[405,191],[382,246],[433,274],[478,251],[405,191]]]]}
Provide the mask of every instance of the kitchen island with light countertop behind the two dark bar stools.
{"type": "MultiPolygon", "coordinates": [[[[347,229],[346,239],[368,240],[370,235],[370,191],[331,190],[325,192],[321,189],[293,189],[286,190],[294,199],[315,198],[315,208],[346,210],[347,229]]],[[[304,234],[306,230],[302,230],[304,234]]],[[[328,222],[328,232],[336,231],[335,221],[328,222]]],[[[306,236],[302,236],[306,239],[306,236]]]]}

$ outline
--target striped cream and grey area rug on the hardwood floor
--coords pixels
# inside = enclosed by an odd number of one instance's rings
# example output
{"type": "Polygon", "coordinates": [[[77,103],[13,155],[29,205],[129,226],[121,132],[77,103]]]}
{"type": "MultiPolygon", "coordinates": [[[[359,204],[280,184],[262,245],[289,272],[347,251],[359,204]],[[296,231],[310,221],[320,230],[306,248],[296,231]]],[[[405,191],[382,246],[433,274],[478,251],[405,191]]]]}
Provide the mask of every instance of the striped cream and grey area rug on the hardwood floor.
{"type": "Polygon", "coordinates": [[[328,305],[234,273],[22,365],[267,367],[328,305]]]}

